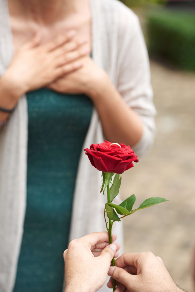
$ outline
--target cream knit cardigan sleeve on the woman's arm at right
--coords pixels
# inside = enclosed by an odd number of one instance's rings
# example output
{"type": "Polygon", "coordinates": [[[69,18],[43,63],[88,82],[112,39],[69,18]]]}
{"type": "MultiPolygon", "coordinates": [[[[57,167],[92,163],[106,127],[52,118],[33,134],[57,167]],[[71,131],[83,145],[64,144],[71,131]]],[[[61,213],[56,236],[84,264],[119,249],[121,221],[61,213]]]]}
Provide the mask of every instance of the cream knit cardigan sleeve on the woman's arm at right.
{"type": "Polygon", "coordinates": [[[118,91],[144,125],[139,142],[132,148],[139,156],[153,145],[156,127],[149,58],[137,16],[126,6],[118,5],[118,91]]]}

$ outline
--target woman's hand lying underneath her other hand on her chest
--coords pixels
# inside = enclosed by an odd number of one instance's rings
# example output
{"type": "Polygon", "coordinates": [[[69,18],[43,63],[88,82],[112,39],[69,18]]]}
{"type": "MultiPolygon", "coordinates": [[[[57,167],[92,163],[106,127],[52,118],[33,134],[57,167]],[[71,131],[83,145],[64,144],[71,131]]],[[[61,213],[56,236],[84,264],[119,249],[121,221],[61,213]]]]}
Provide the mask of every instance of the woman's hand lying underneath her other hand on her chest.
{"type": "Polygon", "coordinates": [[[92,98],[93,91],[100,87],[108,76],[89,56],[82,58],[81,62],[83,66],[80,69],[65,74],[48,87],[60,93],[86,94],[92,98]]]}

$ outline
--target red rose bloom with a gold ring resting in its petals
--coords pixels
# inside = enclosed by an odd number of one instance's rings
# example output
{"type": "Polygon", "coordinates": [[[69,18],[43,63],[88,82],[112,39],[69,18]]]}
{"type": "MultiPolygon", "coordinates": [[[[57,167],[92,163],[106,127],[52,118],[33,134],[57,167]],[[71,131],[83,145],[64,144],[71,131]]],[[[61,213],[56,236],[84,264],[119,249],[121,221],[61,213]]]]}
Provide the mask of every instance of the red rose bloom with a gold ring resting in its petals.
{"type": "Polygon", "coordinates": [[[139,161],[130,146],[104,141],[105,143],[92,144],[90,149],[84,149],[97,170],[121,174],[134,166],[132,161],[139,161]]]}

